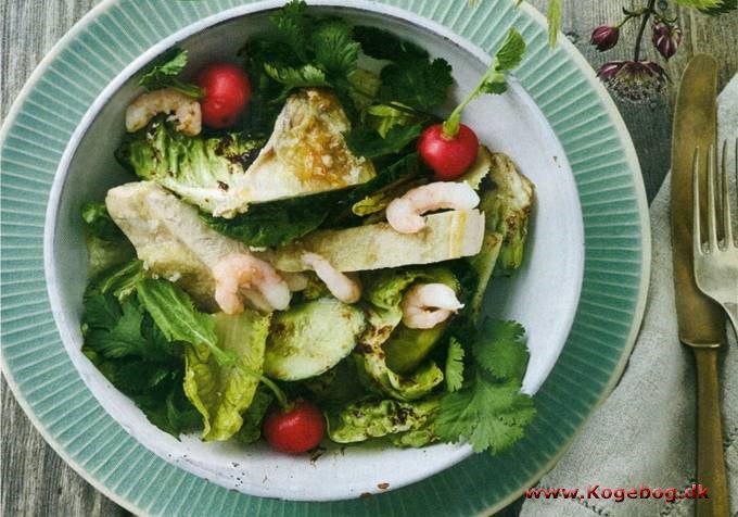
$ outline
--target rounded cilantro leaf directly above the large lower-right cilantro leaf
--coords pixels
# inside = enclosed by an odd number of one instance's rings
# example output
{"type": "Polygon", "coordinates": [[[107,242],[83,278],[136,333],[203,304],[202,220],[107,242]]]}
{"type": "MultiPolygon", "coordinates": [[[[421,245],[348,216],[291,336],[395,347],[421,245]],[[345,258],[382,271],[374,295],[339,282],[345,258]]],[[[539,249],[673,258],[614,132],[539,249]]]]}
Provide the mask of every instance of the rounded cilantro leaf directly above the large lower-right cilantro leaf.
{"type": "Polygon", "coordinates": [[[529,358],[525,329],[517,321],[487,319],[480,328],[472,353],[480,367],[495,378],[520,381],[529,358]]]}

